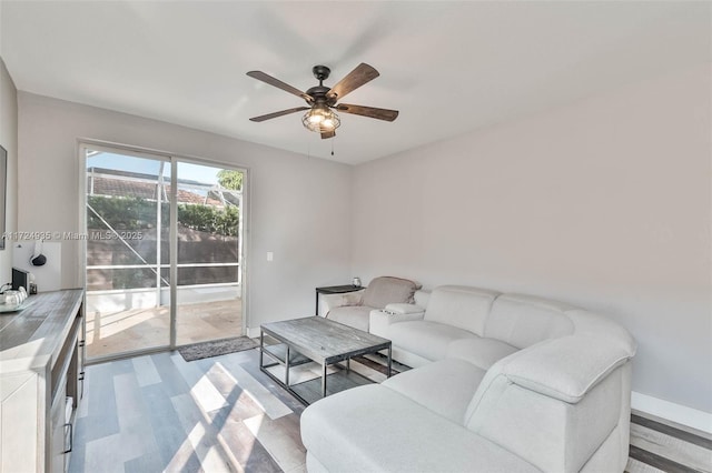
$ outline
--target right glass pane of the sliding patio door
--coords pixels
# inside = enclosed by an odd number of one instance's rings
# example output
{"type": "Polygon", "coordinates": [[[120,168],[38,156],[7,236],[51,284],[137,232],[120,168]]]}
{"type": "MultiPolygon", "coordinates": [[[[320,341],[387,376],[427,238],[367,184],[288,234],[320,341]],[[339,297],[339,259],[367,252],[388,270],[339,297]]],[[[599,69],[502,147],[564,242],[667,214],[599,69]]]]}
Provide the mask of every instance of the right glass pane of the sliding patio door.
{"type": "Polygon", "coordinates": [[[243,173],[177,164],[176,344],[243,334],[243,173]]]}

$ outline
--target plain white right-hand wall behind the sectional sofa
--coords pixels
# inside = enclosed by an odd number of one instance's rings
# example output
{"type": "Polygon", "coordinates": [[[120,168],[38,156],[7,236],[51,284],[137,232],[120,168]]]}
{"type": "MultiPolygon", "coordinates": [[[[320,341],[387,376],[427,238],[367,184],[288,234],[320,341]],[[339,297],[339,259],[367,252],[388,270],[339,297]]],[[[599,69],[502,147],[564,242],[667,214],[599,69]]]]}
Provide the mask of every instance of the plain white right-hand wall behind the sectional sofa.
{"type": "Polygon", "coordinates": [[[606,313],[639,342],[634,391],[711,413],[711,72],[357,167],[354,274],[606,313]]]}

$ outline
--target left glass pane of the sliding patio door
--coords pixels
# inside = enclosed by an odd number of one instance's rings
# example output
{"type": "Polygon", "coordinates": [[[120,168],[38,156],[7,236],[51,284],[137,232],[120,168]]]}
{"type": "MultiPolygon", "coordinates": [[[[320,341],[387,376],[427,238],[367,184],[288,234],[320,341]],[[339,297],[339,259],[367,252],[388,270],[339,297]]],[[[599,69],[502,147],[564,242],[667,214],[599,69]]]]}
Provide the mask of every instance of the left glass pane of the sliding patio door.
{"type": "Polygon", "coordinates": [[[86,149],[87,355],[170,344],[170,162],[86,149]]]}

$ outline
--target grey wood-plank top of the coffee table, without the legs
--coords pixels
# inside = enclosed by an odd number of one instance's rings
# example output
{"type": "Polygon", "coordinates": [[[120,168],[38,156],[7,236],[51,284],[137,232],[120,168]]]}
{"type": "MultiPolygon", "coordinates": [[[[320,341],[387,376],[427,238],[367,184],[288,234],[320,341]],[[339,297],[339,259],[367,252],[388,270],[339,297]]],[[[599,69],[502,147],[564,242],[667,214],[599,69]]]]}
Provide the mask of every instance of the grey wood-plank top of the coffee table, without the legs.
{"type": "Polygon", "coordinates": [[[261,330],[323,364],[390,346],[390,340],[322,316],[264,323],[261,330]]]}

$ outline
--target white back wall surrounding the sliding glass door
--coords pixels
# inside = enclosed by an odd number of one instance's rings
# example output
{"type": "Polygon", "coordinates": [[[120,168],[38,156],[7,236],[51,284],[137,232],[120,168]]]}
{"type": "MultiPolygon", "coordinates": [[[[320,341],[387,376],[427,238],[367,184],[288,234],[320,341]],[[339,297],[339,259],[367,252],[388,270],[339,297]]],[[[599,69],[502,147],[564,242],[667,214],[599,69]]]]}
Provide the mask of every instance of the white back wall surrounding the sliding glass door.
{"type": "MultiPolygon", "coordinates": [[[[350,280],[350,220],[344,212],[349,167],[27,92],[18,97],[20,230],[78,231],[77,140],[105,140],[248,168],[249,328],[310,315],[315,286],[350,280]]],[[[77,286],[79,243],[62,242],[61,253],[61,285],[77,286]]]]}

